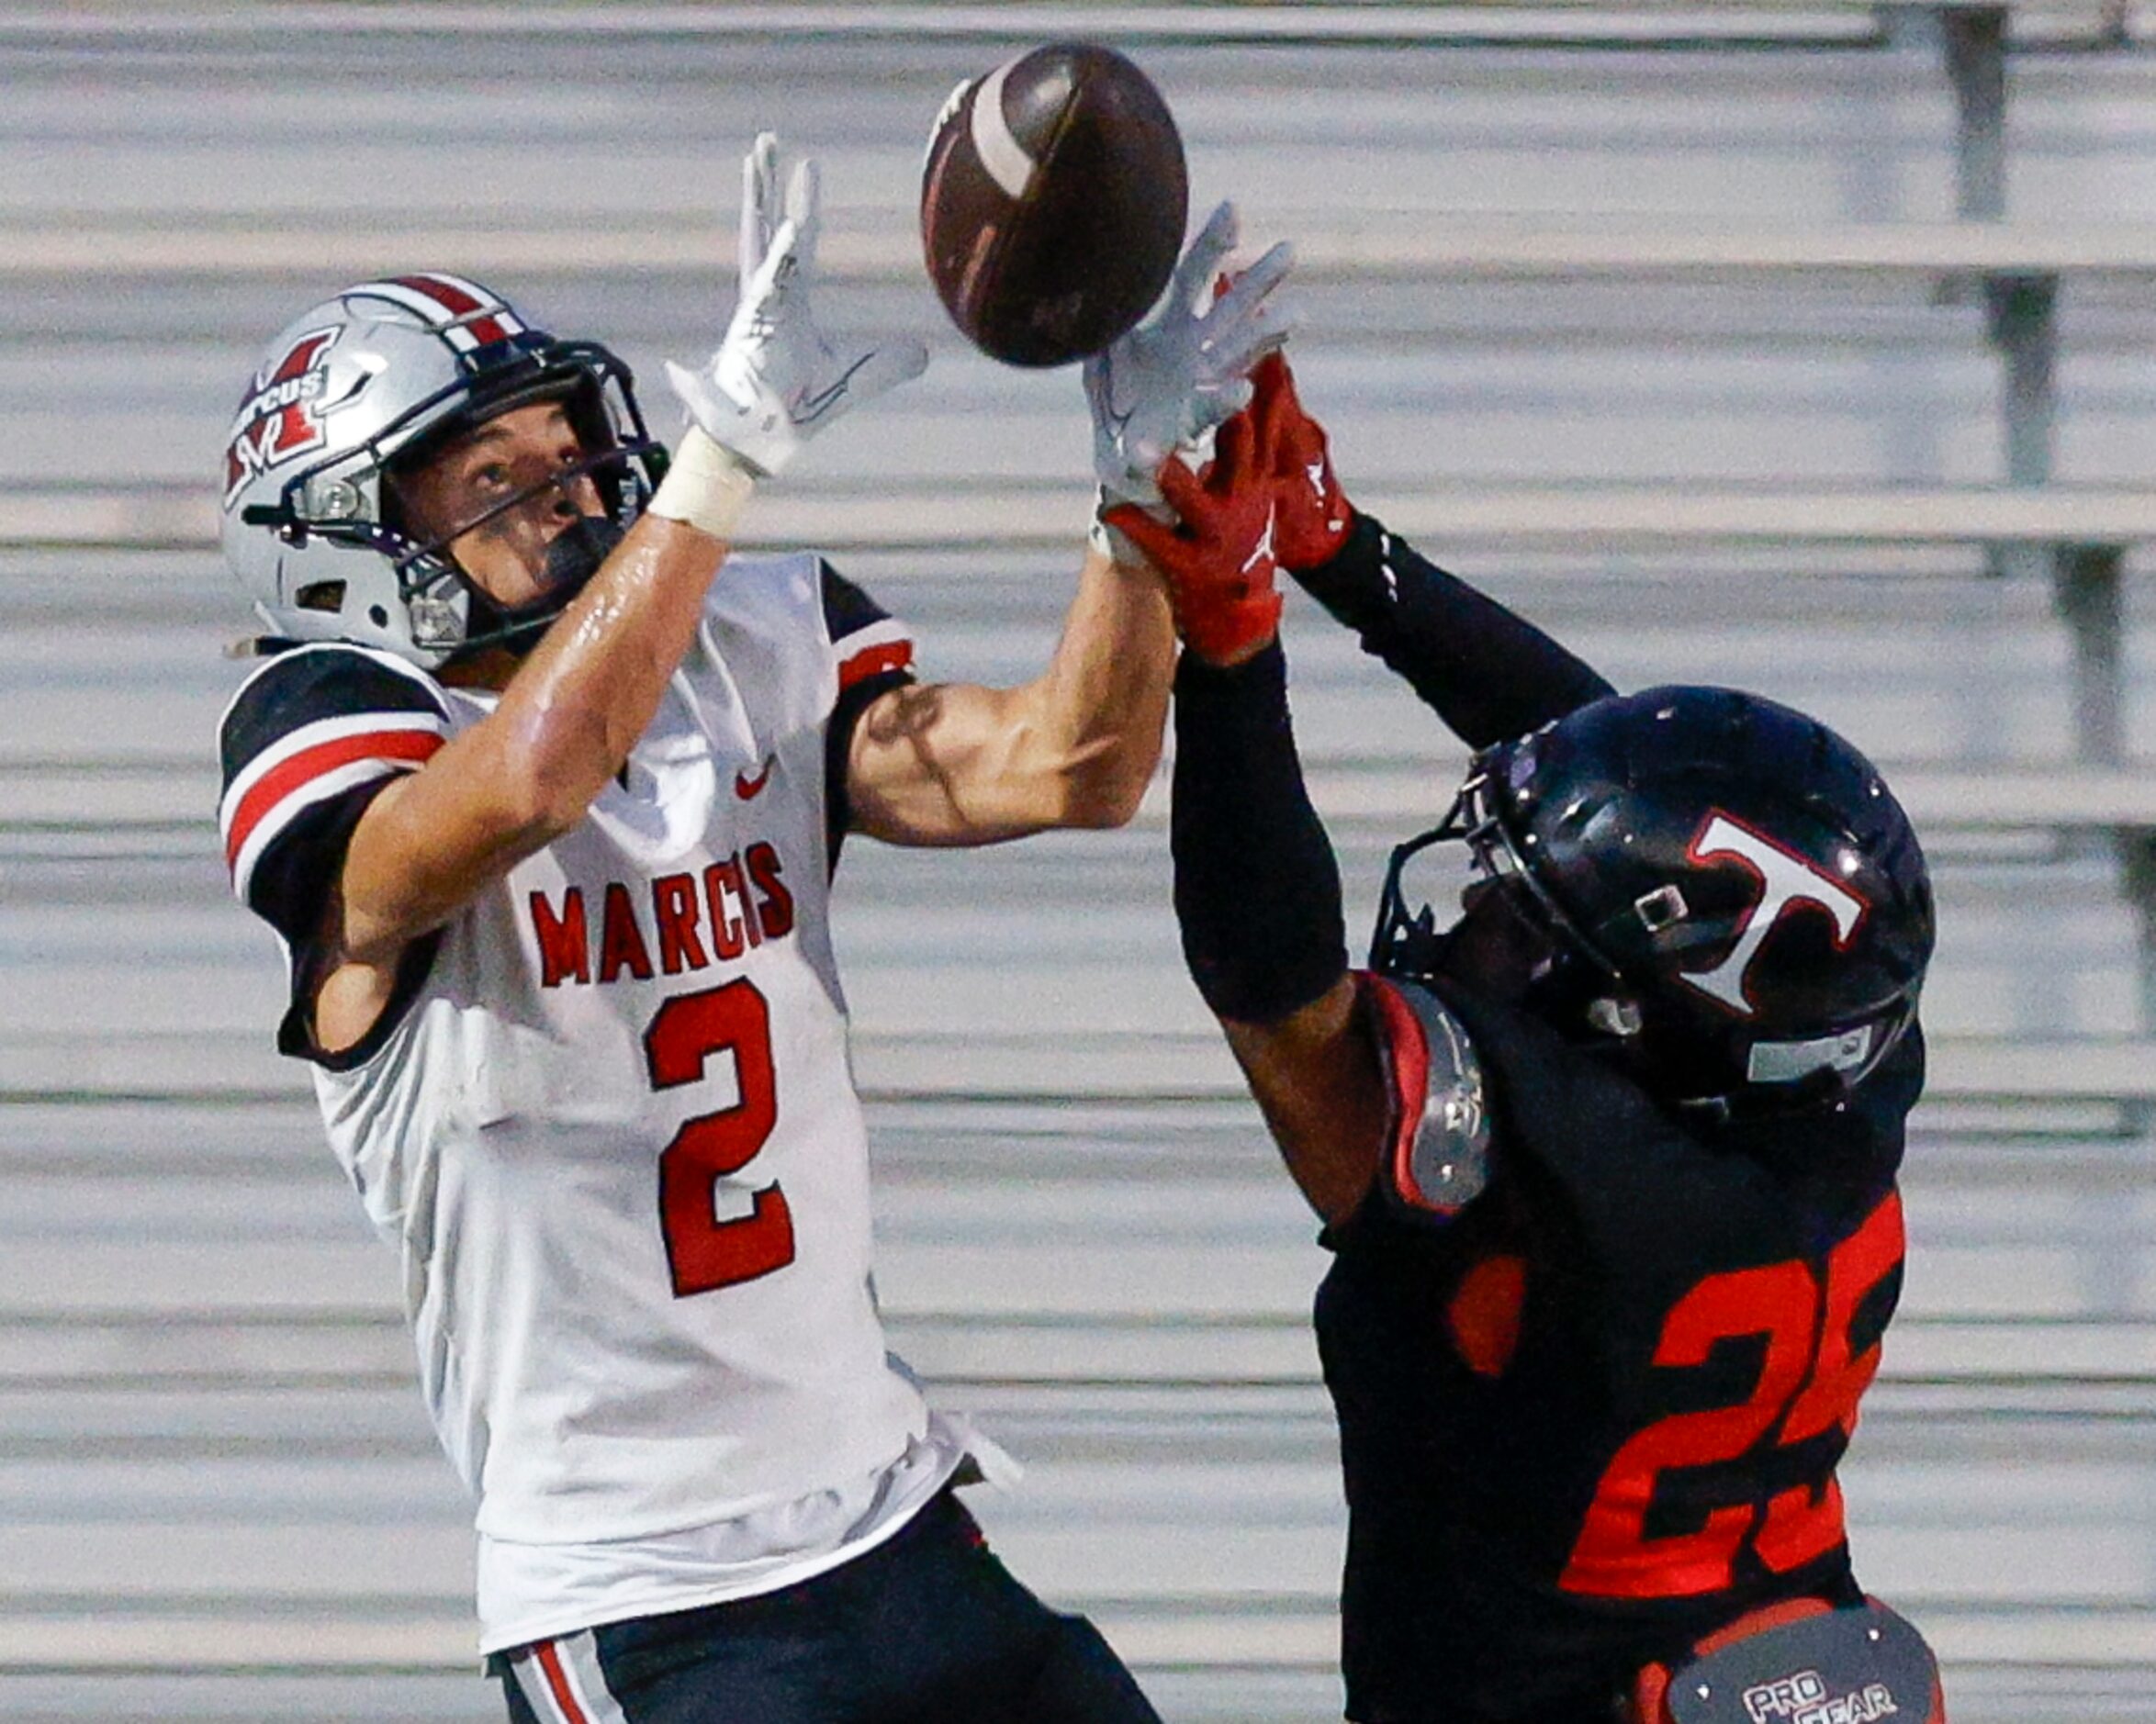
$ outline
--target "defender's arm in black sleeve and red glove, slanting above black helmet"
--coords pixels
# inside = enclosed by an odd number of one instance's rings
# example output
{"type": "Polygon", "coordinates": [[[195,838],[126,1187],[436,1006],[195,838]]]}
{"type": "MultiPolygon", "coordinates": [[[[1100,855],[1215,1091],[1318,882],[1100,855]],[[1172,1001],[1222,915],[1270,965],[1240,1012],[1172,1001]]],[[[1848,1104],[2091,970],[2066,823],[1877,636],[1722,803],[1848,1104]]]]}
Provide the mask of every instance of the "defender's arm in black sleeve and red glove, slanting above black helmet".
{"type": "Polygon", "coordinates": [[[1488,748],[1615,692],[1533,623],[1348,502],[1324,427],[1296,399],[1285,356],[1268,358],[1255,384],[1253,412],[1279,453],[1281,567],[1356,629],[1363,651],[1404,677],[1453,735],[1488,748]]]}

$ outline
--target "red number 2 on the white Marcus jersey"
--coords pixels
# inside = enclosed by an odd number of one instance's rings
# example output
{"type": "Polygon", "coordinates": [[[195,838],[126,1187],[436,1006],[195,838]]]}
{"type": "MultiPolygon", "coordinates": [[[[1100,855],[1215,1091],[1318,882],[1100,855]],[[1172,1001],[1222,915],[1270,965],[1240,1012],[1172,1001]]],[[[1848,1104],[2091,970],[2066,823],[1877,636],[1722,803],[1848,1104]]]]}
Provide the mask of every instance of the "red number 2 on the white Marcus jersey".
{"type": "Polygon", "coordinates": [[[722,1222],[714,1207],[714,1185],[746,1168],[778,1123],[772,1013],[755,983],[737,978],[701,993],[675,993],[645,1030],[655,1090],[694,1084],[714,1054],[733,1054],[740,1099],[681,1121],[660,1153],[660,1231],[677,1299],[755,1280],[793,1261],[793,1211],[776,1181],[755,1194],[746,1215],[722,1222]]]}

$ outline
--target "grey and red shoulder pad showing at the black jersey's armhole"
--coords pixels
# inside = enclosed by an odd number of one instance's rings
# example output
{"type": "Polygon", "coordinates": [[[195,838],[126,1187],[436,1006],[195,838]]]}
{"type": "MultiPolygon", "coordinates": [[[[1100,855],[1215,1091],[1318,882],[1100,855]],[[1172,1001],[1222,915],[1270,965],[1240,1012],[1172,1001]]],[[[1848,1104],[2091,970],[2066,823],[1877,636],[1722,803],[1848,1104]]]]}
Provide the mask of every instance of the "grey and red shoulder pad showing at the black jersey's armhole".
{"type": "Polygon", "coordinates": [[[1369,976],[1393,1090],[1393,1134],[1380,1179],[1419,1215],[1451,1218],[1490,1183],[1490,1110],[1481,1060],[1427,987],[1369,976]]]}

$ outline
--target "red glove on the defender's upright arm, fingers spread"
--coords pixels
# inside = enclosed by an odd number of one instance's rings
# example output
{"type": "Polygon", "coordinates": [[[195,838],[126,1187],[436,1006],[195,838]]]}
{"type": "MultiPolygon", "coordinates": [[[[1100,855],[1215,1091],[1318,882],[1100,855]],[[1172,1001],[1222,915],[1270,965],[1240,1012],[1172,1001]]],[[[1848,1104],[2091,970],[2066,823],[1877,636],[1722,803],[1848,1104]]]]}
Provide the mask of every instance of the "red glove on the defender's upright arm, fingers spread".
{"type": "Polygon", "coordinates": [[[1244,409],[1220,427],[1203,474],[1173,455],[1160,463],[1160,496],[1175,511],[1175,524],[1156,522],[1128,502],[1102,515],[1169,578],[1175,631],[1210,664],[1242,664],[1281,625],[1272,465],[1272,448],[1244,409]]]}

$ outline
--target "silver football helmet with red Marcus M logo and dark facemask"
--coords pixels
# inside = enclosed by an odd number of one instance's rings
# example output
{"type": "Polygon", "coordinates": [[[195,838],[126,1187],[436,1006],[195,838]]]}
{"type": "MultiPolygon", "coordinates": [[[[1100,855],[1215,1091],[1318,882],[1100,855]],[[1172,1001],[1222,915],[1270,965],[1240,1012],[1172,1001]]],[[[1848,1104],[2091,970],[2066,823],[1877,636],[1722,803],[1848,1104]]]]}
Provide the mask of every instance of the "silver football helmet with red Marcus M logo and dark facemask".
{"type": "Polygon", "coordinates": [[[586,545],[612,543],[651,500],[666,453],[645,431],[630,369],[604,347],[556,340],[498,293],[442,274],[362,282],[287,325],[224,444],[224,556],[270,629],[382,646],[425,670],[537,638],[599,556],[586,552],[543,606],[509,614],[446,543],[405,530],[392,481],[399,461],[548,399],[567,405],[584,446],[573,472],[610,517],[586,545]]]}

